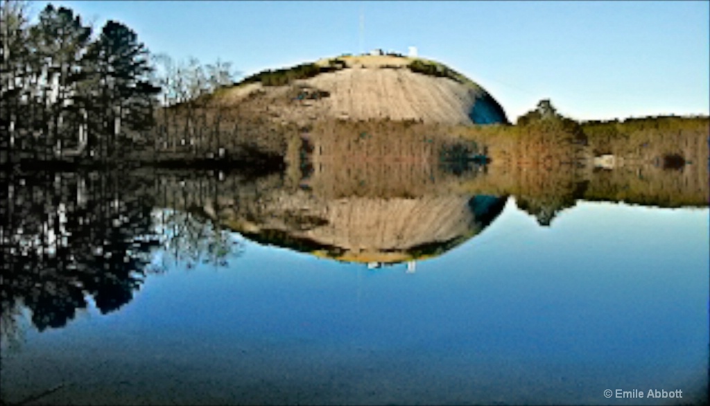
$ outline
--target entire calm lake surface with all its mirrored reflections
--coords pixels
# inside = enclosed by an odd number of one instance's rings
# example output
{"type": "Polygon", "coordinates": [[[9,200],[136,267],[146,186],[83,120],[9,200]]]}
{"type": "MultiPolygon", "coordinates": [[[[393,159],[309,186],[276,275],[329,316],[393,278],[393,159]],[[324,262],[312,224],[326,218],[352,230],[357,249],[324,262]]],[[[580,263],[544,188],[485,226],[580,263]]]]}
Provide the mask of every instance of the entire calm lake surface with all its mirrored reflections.
{"type": "Polygon", "coordinates": [[[708,184],[692,168],[325,164],[9,177],[1,399],[706,400],[708,184]]]}

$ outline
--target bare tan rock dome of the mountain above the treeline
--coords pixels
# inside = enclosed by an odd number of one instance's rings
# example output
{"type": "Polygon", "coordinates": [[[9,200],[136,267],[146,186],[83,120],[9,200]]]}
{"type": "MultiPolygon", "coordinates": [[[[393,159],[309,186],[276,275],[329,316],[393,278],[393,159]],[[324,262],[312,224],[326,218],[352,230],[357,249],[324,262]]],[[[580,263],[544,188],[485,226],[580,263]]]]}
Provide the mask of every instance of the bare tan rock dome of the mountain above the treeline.
{"type": "MultiPolygon", "coordinates": [[[[501,106],[469,79],[413,72],[413,58],[359,56],[339,59],[342,69],[285,86],[246,84],[225,100],[281,122],[319,119],[423,121],[432,124],[507,123],[501,106]],[[317,94],[317,97],[304,95],[317,94]]],[[[327,65],[319,61],[316,65],[327,65]]],[[[443,65],[431,63],[448,70],[443,65]]],[[[450,70],[449,70],[450,71],[450,70]]],[[[453,72],[453,71],[450,71],[453,72]]]]}

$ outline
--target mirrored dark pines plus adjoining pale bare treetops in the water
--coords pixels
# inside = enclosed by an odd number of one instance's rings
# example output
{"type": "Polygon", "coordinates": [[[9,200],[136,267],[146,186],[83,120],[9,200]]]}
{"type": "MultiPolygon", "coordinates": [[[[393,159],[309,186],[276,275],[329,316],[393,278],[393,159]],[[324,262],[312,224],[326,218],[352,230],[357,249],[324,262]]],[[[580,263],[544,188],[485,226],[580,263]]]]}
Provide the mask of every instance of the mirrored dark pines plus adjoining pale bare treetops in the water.
{"type": "Polygon", "coordinates": [[[151,175],[35,172],[8,180],[0,206],[3,341],[18,336],[23,309],[40,331],[63,327],[87,297],[102,314],[130,302],[146,274],[165,270],[170,258],[188,268],[226,266],[241,248],[207,217],[156,214],[151,175]]]}

